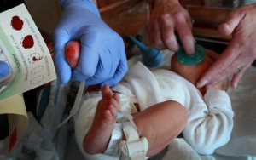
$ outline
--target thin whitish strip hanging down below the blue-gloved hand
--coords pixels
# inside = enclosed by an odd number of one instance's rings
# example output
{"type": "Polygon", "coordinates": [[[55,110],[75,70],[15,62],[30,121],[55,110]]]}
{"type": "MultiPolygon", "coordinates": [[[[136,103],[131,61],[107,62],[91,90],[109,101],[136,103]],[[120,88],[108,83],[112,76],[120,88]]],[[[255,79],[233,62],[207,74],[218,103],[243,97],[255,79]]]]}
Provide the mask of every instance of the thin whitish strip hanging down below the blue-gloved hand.
{"type": "Polygon", "coordinates": [[[73,107],[72,107],[71,111],[69,112],[68,117],[66,117],[66,118],[64,119],[64,121],[62,121],[62,122],[57,126],[57,128],[60,128],[64,123],[67,123],[67,121],[68,121],[71,117],[73,117],[73,115],[76,114],[76,112],[79,110],[80,102],[81,102],[81,99],[82,99],[82,96],[83,96],[83,93],[84,93],[84,85],[85,85],[85,81],[80,82],[79,91],[78,91],[77,97],[76,97],[76,99],[75,99],[75,101],[74,101],[73,107]]]}

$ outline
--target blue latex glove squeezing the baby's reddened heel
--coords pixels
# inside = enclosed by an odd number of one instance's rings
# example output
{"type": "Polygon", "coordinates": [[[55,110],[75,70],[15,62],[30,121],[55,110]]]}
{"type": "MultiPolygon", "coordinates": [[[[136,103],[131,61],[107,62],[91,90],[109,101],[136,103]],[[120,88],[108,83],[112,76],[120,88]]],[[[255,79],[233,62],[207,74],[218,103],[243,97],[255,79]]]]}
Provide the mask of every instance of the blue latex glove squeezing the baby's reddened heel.
{"type": "Polygon", "coordinates": [[[127,71],[123,39],[101,19],[90,0],[64,0],[63,13],[53,34],[55,69],[61,83],[72,77],[86,85],[119,83],[127,71]],[[72,71],[65,58],[65,46],[79,40],[81,54],[72,71]]]}

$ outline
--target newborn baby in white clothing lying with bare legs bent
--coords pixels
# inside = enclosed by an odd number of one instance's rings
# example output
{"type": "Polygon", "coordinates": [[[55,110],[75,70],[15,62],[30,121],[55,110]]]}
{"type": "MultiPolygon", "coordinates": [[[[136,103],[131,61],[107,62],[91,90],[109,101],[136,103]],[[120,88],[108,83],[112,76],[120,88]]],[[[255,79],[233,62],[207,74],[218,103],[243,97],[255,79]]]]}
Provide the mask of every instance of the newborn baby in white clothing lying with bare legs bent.
{"type": "Polygon", "coordinates": [[[76,138],[84,156],[150,157],[181,132],[200,154],[212,154],[227,143],[234,114],[223,83],[207,89],[195,87],[216,57],[212,51],[206,52],[195,65],[181,63],[174,54],[171,70],[150,71],[138,62],[119,84],[111,89],[105,85],[100,93],[90,92],[75,117],[76,138]],[[133,141],[125,128],[127,122],[131,133],[137,132],[133,141]],[[137,144],[133,146],[137,151],[129,152],[131,143],[137,144]]]}

